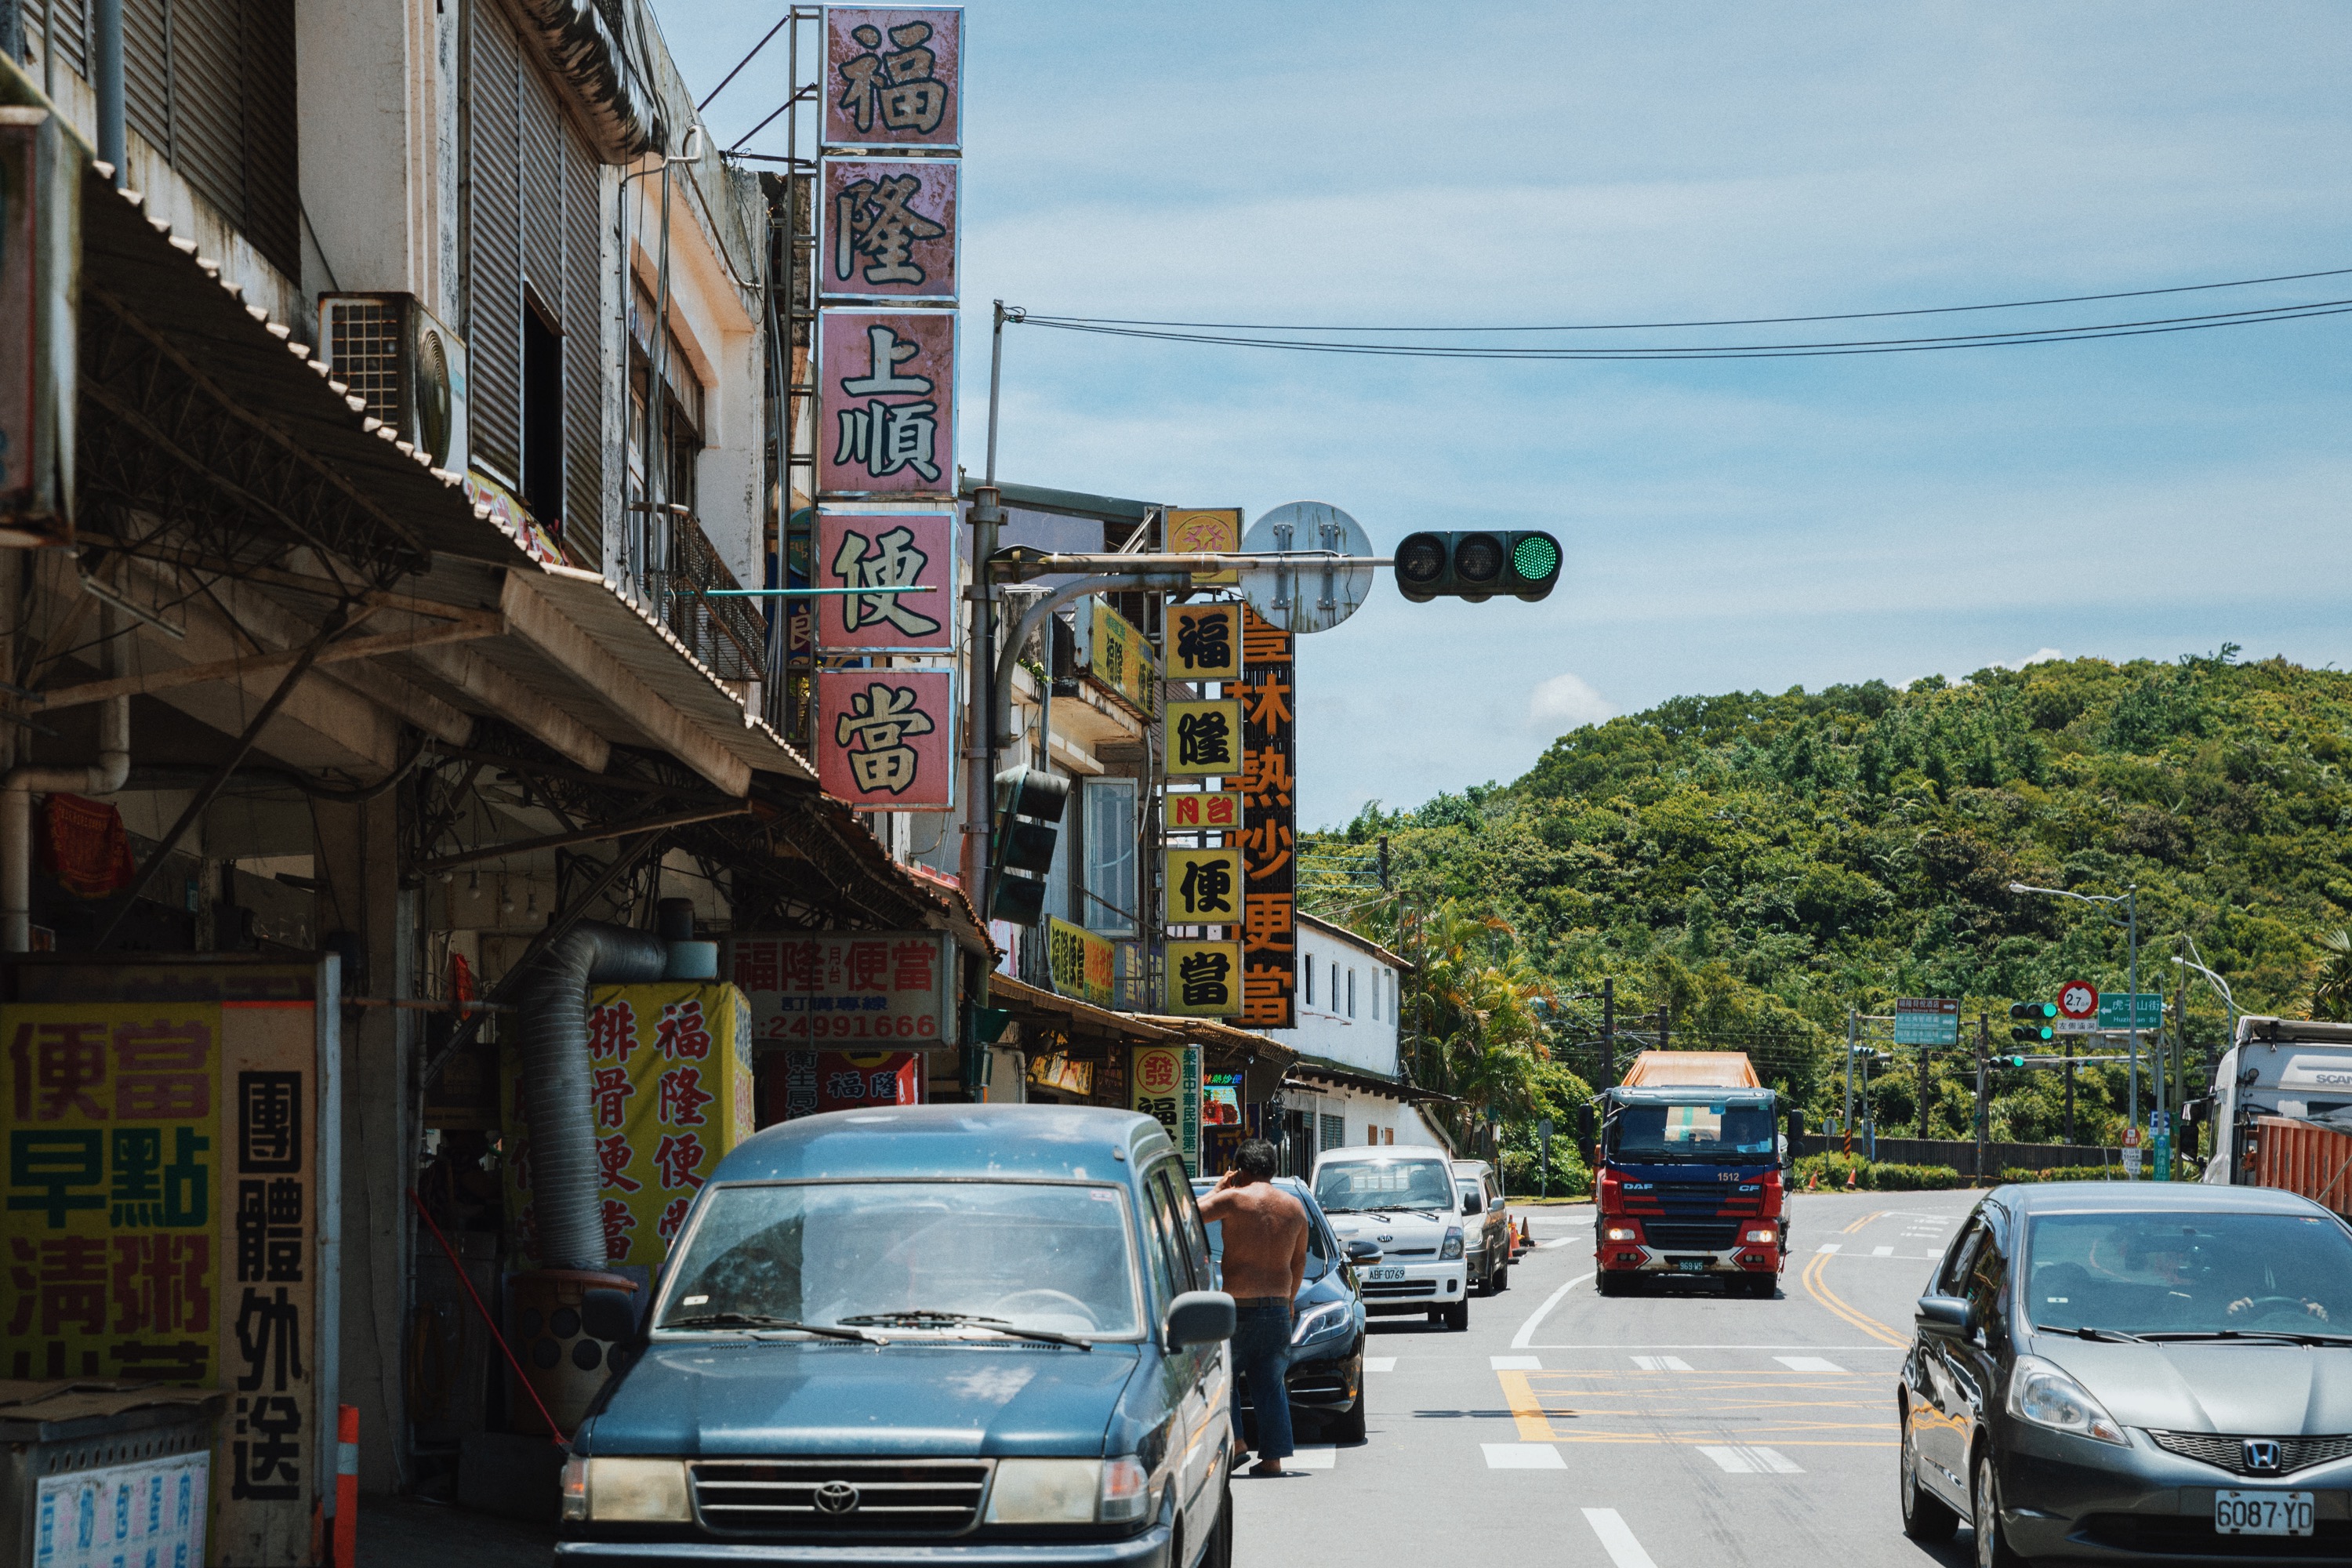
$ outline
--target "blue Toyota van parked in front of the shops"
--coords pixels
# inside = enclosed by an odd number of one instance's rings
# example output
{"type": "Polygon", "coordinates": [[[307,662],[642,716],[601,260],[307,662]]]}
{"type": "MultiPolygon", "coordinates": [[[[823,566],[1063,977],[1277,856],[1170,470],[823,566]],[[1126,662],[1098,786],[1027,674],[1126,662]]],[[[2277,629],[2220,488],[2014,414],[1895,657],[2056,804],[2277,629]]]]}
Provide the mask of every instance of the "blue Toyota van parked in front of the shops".
{"type": "MultiPolygon", "coordinates": [[[[564,1465],[557,1566],[1228,1568],[1232,1298],[1150,1117],[835,1112],[713,1173],[564,1465]]],[[[612,1333],[604,1333],[604,1328],[612,1333]]]]}

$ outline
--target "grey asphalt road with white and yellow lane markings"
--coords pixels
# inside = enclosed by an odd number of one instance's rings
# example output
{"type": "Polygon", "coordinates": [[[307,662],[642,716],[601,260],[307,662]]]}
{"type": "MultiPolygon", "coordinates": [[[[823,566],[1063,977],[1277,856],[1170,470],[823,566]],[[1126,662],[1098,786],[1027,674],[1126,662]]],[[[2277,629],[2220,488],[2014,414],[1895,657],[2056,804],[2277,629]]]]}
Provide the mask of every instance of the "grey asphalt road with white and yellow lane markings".
{"type": "Polygon", "coordinates": [[[1237,1476],[1240,1568],[1369,1556],[1595,1568],[1962,1568],[1896,1512],[1896,1368],[1973,1192],[1799,1197],[1780,1293],[1602,1300],[1592,1211],[1534,1208],[1538,1251],[1470,1331],[1374,1319],[1367,1441],[1237,1476]],[[1835,1248],[1835,1251],[1828,1251],[1835,1248]]]}

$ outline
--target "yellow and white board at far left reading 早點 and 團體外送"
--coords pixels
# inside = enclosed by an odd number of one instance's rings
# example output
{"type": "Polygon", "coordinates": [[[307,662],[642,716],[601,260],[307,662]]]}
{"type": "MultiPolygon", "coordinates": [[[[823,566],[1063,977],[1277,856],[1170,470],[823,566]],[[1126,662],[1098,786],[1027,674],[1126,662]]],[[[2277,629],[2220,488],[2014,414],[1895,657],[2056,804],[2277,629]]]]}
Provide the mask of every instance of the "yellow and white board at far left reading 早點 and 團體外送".
{"type": "Polygon", "coordinates": [[[318,1009],[49,1001],[0,1009],[0,1039],[7,1375],[221,1387],[223,1462],[191,1507],[219,1509],[228,1561],[303,1561],[334,1474],[318,1408],[318,1009]]]}

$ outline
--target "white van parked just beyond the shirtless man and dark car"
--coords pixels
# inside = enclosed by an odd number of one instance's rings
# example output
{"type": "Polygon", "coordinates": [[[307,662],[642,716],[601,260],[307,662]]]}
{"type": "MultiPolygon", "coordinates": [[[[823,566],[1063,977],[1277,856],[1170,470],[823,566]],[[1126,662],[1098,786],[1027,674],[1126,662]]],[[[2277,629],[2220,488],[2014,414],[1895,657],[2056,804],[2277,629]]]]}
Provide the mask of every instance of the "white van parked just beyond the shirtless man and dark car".
{"type": "Polygon", "coordinates": [[[1315,1201],[1331,1218],[1341,1246],[1371,1241],[1381,1248],[1381,1258],[1362,1269],[1367,1314],[1428,1312],[1432,1324],[1470,1328],[1463,1220],[1444,1150],[1324,1150],[1315,1161],[1315,1201]]]}

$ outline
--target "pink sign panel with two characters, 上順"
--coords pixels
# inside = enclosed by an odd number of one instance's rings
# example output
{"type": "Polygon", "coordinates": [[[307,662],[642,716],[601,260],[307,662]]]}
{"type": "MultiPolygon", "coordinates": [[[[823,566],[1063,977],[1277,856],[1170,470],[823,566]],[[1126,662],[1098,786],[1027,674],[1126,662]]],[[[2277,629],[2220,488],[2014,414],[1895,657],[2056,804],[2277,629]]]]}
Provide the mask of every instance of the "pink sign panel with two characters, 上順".
{"type": "Polygon", "coordinates": [[[955,484],[955,313],[818,310],[821,496],[948,496],[955,484]]]}

